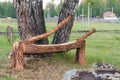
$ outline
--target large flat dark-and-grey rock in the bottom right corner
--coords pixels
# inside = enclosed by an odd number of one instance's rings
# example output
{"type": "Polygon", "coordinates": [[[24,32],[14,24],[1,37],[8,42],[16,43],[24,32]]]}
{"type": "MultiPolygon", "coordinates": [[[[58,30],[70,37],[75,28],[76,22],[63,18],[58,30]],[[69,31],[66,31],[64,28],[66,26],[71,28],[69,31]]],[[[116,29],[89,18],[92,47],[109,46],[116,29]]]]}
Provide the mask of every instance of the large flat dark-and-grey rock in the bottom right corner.
{"type": "Polygon", "coordinates": [[[120,71],[80,70],[71,76],[71,80],[120,80],[120,71]]]}

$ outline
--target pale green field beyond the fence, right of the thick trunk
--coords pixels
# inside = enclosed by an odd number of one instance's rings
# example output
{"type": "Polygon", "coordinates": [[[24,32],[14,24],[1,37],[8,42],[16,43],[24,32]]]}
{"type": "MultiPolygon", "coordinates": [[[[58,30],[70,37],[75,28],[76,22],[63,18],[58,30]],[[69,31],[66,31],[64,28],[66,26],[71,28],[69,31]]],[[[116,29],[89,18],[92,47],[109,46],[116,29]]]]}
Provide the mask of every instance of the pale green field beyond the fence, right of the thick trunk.
{"type": "MultiPolygon", "coordinates": [[[[49,22],[47,23],[47,30],[51,30],[54,28],[56,23],[49,22]]],[[[100,23],[100,22],[90,22],[90,29],[96,28],[97,30],[120,30],[120,23],[100,23]]],[[[75,22],[72,28],[72,31],[80,31],[80,30],[89,30],[87,22],[75,22]]]]}

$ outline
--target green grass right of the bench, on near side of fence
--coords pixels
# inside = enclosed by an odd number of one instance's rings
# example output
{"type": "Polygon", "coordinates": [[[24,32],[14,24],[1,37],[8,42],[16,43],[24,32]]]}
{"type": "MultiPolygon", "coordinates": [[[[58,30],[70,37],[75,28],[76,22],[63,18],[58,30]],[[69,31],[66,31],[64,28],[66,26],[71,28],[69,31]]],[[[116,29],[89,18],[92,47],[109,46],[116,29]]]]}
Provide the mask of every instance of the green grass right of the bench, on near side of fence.
{"type": "MultiPolygon", "coordinates": [[[[76,35],[73,33],[71,34],[71,41],[78,37],[76,35]]],[[[117,33],[94,33],[92,36],[86,39],[87,63],[92,64],[93,62],[105,62],[120,68],[119,44],[120,36],[117,33]]]]}

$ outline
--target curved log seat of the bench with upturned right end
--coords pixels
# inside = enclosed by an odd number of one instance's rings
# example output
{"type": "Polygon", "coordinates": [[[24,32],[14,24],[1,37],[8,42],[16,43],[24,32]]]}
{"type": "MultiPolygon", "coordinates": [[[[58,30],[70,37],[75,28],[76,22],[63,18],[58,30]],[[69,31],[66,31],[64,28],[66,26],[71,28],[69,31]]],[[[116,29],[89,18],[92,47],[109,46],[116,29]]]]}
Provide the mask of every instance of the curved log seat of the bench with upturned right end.
{"type": "Polygon", "coordinates": [[[68,43],[62,43],[62,44],[52,44],[52,45],[36,45],[31,43],[22,43],[23,46],[23,52],[27,54],[34,54],[34,53],[51,53],[51,52],[62,52],[62,51],[68,51],[70,49],[76,49],[80,48],[80,44],[82,41],[90,36],[92,33],[94,33],[96,30],[93,28],[86,34],[84,34],[81,38],[68,42],[68,43]]]}

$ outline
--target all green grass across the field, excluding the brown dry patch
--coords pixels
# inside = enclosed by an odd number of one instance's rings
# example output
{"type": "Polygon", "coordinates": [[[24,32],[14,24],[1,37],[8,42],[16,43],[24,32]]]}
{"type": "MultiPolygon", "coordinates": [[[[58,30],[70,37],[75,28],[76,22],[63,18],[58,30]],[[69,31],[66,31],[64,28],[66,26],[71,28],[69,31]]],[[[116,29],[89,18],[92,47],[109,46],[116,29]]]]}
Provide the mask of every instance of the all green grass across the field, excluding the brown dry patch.
{"type": "MultiPolygon", "coordinates": [[[[14,32],[17,32],[16,22],[0,22],[0,31],[5,31],[6,26],[12,26],[14,32]]],[[[55,22],[47,22],[47,31],[50,31],[56,26],[55,22]]],[[[91,22],[90,28],[96,28],[96,30],[120,30],[120,24],[118,23],[99,23],[91,22]]],[[[72,31],[88,30],[86,22],[75,22],[72,31]]],[[[71,33],[70,41],[73,41],[84,33],[71,33]]],[[[49,36],[51,43],[53,35],[49,36]]],[[[15,41],[19,41],[17,37],[15,41]]],[[[7,53],[12,49],[12,44],[7,41],[6,36],[0,36],[0,69],[6,66],[8,63],[7,53]]],[[[75,50],[66,52],[65,55],[57,54],[57,58],[65,60],[69,64],[74,64],[75,50]]],[[[91,66],[94,62],[105,62],[113,64],[116,68],[120,68],[120,35],[116,32],[96,32],[86,39],[86,60],[87,65],[91,66]]],[[[58,62],[59,63],[59,62],[58,62]]],[[[63,64],[64,65],[64,64],[63,64]]],[[[74,64],[75,65],[75,64],[74,64]]],[[[72,66],[72,65],[71,65],[72,66]]],[[[79,65],[76,65],[79,66],[79,65]]],[[[3,77],[4,78],[4,77],[3,77]]],[[[11,77],[7,76],[2,80],[12,80],[11,77]],[[8,79],[10,78],[10,79],[8,79]]],[[[1,76],[0,76],[1,79],[1,76]]]]}

